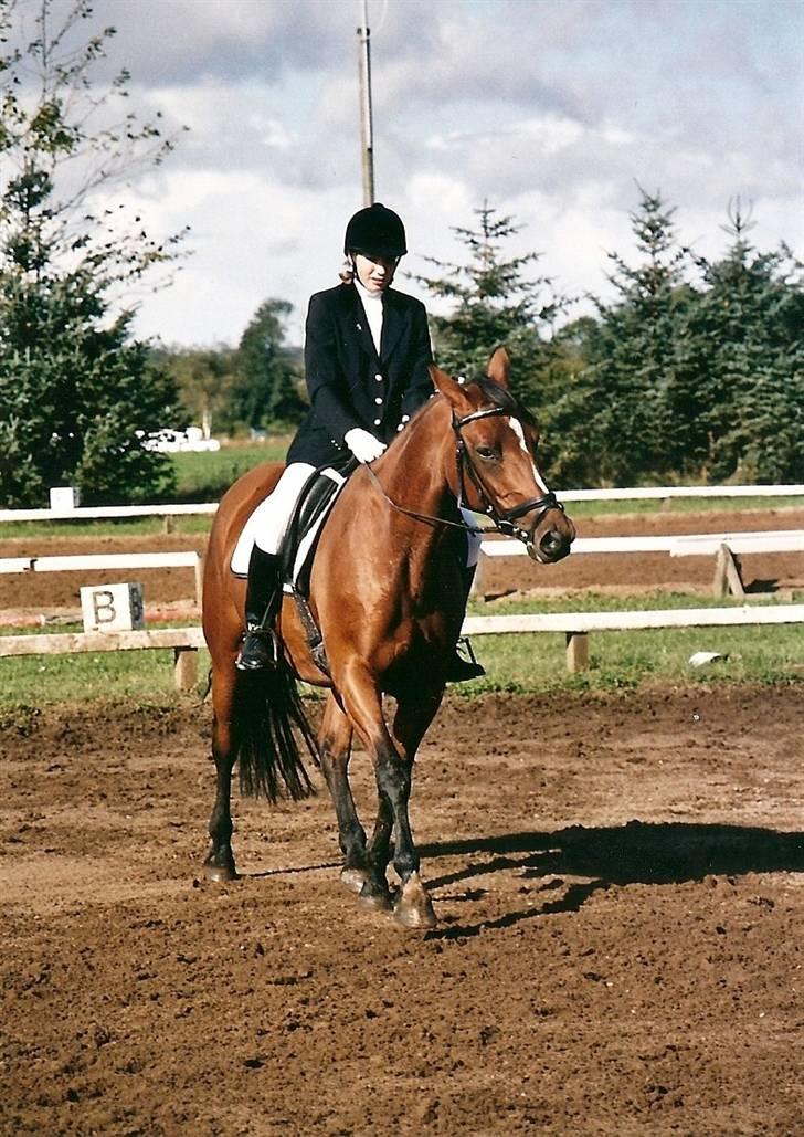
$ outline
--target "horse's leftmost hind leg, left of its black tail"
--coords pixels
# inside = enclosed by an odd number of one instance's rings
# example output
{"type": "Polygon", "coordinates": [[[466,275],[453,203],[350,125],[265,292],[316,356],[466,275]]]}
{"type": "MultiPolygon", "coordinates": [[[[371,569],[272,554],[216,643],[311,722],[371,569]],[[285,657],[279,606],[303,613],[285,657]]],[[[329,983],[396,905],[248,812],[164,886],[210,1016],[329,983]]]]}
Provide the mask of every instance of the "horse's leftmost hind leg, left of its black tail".
{"type": "Polygon", "coordinates": [[[213,669],[213,758],[216,771],[215,805],[209,818],[212,845],[204,862],[207,880],[235,880],[232,853],[232,767],[234,765],[233,708],[237,672],[231,659],[213,669]]]}

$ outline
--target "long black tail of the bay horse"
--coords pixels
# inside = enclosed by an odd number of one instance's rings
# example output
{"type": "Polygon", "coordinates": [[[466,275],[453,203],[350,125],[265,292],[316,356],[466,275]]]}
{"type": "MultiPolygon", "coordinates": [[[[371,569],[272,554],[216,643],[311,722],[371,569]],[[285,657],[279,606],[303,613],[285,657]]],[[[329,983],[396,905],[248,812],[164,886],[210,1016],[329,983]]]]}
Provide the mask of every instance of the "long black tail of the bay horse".
{"type": "Polygon", "coordinates": [[[293,728],[316,765],[318,748],[285,659],[265,671],[238,673],[232,727],[241,794],[272,803],[285,792],[295,802],[315,794],[293,728]]]}

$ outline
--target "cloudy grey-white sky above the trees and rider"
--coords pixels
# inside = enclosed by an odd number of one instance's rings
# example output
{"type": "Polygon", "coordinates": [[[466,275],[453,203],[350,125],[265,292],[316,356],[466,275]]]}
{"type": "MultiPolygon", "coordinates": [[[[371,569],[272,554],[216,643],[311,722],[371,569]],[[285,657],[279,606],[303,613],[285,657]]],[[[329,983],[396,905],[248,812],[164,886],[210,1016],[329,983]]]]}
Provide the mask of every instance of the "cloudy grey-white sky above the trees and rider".
{"type": "MultiPolygon", "coordinates": [[[[233,343],[276,297],[300,342],[363,205],[362,0],[93,8],[117,27],[134,105],[189,127],[130,191],[151,232],[191,227],[138,331],[233,343]]],[[[462,259],[451,226],[488,201],[523,226],[506,251],[540,250],[563,290],[605,294],[636,183],[702,252],[724,247],[739,196],[757,246],[804,256],[804,0],[368,0],[368,25],[376,197],[406,221],[413,272],[462,259]]]]}

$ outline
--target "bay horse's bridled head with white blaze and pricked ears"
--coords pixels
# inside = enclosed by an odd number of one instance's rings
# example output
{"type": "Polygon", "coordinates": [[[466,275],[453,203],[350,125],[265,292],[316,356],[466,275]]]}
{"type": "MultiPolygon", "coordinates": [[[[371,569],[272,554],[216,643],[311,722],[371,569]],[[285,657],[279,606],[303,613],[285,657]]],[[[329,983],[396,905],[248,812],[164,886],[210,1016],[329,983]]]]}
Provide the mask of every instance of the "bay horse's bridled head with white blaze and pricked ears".
{"type": "Polygon", "coordinates": [[[552,564],[570,551],[575,526],[539,472],[539,430],[508,390],[509,366],[507,351],[498,348],[488,376],[471,383],[430,368],[451,409],[456,462],[450,489],[459,505],[487,514],[500,532],[523,541],[534,561],[552,564]]]}

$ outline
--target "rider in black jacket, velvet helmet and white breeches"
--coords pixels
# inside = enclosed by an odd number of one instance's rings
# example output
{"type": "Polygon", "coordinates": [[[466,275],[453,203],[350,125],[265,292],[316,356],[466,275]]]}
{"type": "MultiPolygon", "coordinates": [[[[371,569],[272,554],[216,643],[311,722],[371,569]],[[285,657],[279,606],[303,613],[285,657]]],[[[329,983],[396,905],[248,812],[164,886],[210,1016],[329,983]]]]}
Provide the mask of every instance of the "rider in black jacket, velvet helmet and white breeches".
{"type": "MultiPolygon", "coordinates": [[[[309,475],[320,466],[342,465],[345,458],[374,462],[433,393],[424,305],[391,288],[407,252],[401,218],[380,202],[359,209],[346,227],[343,251],[343,283],[316,292],[307,312],[309,412],[290,443],[282,476],[254,517],[246,634],[235,661],[241,671],[259,671],[276,661],[272,623],[282,598],[280,550],[309,475]]],[[[467,576],[467,587],[470,582],[467,576]]],[[[448,679],[482,674],[479,664],[456,653],[448,679]]]]}

